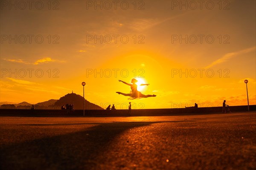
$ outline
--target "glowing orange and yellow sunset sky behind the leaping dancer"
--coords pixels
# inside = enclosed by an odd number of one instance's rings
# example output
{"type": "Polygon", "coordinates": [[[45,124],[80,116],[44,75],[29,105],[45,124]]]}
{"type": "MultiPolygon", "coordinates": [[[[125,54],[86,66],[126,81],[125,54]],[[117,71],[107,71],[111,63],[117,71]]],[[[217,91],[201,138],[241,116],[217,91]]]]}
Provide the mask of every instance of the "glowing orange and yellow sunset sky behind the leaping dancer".
{"type": "Polygon", "coordinates": [[[256,105],[254,0],[40,2],[1,1],[0,102],[83,96],[86,82],[84,98],[104,108],[247,105],[247,79],[256,105]],[[134,77],[157,96],[116,94],[134,77]]]}

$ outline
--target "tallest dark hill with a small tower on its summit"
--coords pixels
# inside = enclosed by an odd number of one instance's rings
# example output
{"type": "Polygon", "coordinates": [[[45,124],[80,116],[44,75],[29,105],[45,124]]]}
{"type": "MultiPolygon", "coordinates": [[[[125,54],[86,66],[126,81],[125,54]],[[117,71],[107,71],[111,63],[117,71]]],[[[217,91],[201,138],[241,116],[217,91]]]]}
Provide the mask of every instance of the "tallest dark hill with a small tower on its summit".
{"type": "Polygon", "coordinates": [[[103,108],[99,107],[98,105],[95,105],[91,102],[88,102],[87,100],[84,99],[83,103],[83,97],[75,94],[75,93],[70,93],[66,94],[65,96],[61,97],[58,99],[57,102],[55,102],[55,107],[61,108],[62,105],[66,106],[66,104],[74,104],[74,109],[86,109],[86,110],[102,110],[103,108]]]}

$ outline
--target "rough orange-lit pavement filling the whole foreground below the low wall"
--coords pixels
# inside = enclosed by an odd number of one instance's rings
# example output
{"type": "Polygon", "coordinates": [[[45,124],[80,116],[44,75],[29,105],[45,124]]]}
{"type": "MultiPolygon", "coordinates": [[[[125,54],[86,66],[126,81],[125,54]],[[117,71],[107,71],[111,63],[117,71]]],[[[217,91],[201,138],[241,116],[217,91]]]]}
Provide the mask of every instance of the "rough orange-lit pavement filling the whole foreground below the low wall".
{"type": "Polygon", "coordinates": [[[1,170],[255,170],[256,112],[0,117],[1,170]]]}

